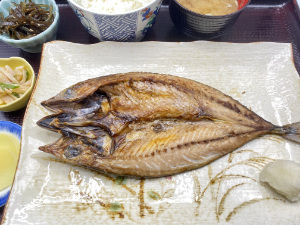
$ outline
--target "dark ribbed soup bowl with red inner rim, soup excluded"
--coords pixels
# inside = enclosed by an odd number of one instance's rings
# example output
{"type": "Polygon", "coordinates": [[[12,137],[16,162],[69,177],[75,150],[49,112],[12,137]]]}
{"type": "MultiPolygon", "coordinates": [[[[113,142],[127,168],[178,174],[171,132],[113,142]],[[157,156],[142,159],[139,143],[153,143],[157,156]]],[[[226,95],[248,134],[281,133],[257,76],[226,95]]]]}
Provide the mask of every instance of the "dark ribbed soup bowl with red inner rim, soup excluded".
{"type": "Polygon", "coordinates": [[[203,15],[170,0],[169,13],[175,26],[184,34],[195,38],[216,38],[232,27],[250,0],[237,0],[238,11],[222,15],[203,15]]]}

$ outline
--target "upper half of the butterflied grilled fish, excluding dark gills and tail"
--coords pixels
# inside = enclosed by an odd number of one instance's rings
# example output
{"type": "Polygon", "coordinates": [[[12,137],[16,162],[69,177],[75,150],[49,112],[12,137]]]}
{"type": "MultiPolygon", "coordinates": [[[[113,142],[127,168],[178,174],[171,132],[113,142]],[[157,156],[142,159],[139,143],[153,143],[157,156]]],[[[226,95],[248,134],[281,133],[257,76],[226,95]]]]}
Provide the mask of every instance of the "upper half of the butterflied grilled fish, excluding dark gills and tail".
{"type": "Polygon", "coordinates": [[[111,111],[125,116],[145,119],[152,114],[152,118],[166,116],[197,119],[211,116],[239,120],[253,126],[269,124],[212,87],[186,78],[153,73],[115,74],[90,79],[63,90],[41,104],[54,112],[68,111],[72,103],[76,104],[98,90],[108,95],[111,111]]]}

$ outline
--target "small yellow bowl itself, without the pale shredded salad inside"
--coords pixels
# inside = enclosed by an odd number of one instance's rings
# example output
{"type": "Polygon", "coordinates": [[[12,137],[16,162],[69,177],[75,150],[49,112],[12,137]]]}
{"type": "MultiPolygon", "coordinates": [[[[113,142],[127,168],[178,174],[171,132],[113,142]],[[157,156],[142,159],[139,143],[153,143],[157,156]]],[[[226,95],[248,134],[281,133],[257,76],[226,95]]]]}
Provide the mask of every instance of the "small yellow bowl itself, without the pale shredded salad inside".
{"type": "Polygon", "coordinates": [[[18,66],[24,66],[25,70],[28,72],[28,80],[32,78],[30,88],[24,93],[23,96],[13,101],[12,103],[0,105],[0,111],[3,112],[16,111],[26,106],[31,96],[36,77],[32,66],[23,58],[20,57],[0,58],[0,67],[4,67],[5,65],[9,65],[12,69],[18,66]]]}

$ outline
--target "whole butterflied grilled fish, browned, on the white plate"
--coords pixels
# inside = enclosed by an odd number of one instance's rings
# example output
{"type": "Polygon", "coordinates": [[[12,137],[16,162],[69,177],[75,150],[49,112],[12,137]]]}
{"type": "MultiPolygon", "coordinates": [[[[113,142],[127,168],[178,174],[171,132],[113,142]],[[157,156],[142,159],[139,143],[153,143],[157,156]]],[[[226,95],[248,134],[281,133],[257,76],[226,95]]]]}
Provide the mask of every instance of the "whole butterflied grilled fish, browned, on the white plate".
{"type": "Polygon", "coordinates": [[[42,105],[54,113],[38,125],[62,136],[40,150],[118,175],[192,170],[268,133],[300,140],[300,123],[275,126],[212,87],[170,75],[94,78],[42,105]]]}

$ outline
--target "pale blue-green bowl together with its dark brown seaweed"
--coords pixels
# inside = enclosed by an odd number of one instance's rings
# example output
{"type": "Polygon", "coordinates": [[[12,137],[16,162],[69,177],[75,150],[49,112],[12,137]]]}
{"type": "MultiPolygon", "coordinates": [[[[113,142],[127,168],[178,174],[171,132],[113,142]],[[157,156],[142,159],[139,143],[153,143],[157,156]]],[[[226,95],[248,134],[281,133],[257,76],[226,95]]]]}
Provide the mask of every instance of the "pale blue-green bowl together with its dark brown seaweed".
{"type": "Polygon", "coordinates": [[[56,39],[59,10],[55,0],[1,0],[0,40],[38,53],[56,39]]]}

